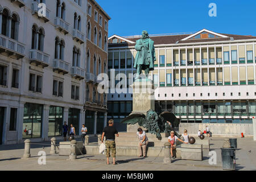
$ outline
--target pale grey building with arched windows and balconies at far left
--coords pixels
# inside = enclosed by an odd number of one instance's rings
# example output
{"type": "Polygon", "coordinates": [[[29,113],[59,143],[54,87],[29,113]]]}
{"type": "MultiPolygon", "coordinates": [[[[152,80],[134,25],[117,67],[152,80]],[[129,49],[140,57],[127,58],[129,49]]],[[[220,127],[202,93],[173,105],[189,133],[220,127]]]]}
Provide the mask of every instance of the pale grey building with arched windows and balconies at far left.
{"type": "Polygon", "coordinates": [[[79,0],[0,2],[0,144],[61,139],[64,121],[81,134],[87,6],[79,0]]]}

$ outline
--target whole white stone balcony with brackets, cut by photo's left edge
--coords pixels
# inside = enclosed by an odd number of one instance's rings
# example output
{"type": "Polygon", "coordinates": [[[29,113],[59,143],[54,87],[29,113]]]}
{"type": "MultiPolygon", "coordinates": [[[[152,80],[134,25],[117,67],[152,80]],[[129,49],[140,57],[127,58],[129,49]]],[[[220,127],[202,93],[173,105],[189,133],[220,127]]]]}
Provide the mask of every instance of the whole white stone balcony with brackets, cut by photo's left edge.
{"type": "Polygon", "coordinates": [[[5,35],[0,34],[0,53],[6,52],[8,56],[15,56],[16,59],[23,58],[25,45],[19,43],[17,40],[11,39],[5,35]]]}

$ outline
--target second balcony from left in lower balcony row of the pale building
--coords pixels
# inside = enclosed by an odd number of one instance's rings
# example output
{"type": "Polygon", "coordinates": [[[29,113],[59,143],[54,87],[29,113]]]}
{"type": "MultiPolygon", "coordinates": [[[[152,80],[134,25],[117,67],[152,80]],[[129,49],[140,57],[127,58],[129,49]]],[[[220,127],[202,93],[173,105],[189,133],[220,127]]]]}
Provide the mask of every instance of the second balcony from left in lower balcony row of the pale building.
{"type": "Polygon", "coordinates": [[[42,65],[42,67],[49,66],[49,55],[37,49],[30,50],[30,63],[35,63],[36,66],[42,65]]]}

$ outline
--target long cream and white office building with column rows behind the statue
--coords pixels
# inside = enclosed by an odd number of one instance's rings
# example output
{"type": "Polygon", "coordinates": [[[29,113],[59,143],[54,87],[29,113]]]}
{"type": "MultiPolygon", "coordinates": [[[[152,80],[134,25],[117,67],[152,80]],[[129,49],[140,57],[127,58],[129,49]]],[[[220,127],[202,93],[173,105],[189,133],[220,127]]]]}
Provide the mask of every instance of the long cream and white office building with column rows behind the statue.
{"type": "MultiPolygon", "coordinates": [[[[119,122],[130,114],[129,85],[140,36],[111,36],[108,72],[125,73],[127,93],[108,94],[108,117],[119,122]]],[[[256,37],[209,30],[150,35],[155,42],[155,108],[172,111],[181,123],[251,124],[256,107],[256,37]]],[[[115,84],[118,84],[118,80],[115,84]]],[[[119,124],[120,130],[126,127],[119,124]]]]}

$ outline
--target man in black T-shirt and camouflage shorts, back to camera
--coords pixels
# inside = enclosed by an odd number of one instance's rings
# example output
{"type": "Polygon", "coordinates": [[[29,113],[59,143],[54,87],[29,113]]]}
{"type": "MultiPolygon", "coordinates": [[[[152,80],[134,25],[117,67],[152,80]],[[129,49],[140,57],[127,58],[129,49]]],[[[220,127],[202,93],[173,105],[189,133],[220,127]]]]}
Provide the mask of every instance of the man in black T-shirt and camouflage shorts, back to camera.
{"type": "Polygon", "coordinates": [[[107,158],[107,164],[109,164],[109,156],[110,156],[110,150],[113,157],[113,164],[115,164],[115,136],[119,137],[117,129],[115,129],[114,120],[109,120],[109,126],[106,126],[103,130],[102,137],[101,137],[101,143],[103,143],[104,136],[106,137],[106,158],[107,158]]]}

